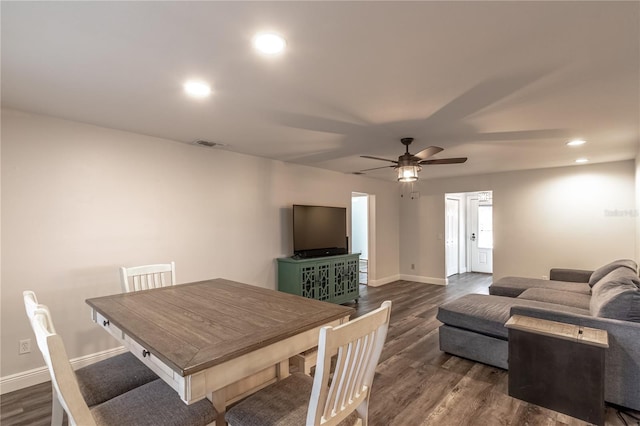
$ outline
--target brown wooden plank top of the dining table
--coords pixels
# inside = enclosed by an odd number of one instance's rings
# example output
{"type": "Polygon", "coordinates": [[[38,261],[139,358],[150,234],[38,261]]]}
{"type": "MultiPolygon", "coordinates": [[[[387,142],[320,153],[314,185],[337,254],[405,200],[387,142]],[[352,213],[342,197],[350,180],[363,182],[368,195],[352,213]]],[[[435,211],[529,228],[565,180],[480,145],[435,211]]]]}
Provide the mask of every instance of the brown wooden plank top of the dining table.
{"type": "Polygon", "coordinates": [[[182,376],[355,312],[221,278],[86,302],[182,376]]]}

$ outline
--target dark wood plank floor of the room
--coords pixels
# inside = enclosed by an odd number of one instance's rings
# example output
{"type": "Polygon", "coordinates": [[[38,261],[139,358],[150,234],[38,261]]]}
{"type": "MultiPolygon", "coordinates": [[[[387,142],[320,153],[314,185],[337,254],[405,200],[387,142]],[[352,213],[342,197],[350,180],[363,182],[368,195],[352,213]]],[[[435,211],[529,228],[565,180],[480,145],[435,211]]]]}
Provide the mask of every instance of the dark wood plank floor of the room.
{"type": "MultiPolygon", "coordinates": [[[[449,285],[397,281],[361,287],[362,315],[392,300],[391,324],[373,383],[371,426],[585,425],[575,418],[509,397],[507,372],[440,352],[438,305],[467,293],[487,293],[491,275],[462,274],[449,285]]],[[[2,396],[2,425],[48,425],[51,385],[2,396]]],[[[632,412],[640,417],[640,413],[632,412]]],[[[607,407],[607,425],[640,425],[607,407]],[[622,416],[625,421],[621,420],[622,416]]]]}

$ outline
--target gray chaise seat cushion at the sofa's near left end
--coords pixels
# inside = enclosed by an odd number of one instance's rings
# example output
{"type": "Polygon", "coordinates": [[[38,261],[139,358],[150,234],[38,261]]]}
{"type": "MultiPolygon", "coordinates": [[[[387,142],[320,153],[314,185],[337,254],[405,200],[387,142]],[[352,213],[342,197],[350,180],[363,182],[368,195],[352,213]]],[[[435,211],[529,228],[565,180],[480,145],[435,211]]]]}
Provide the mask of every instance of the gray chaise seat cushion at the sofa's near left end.
{"type": "Polygon", "coordinates": [[[511,316],[514,306],[552,309],[589,315],[586,309],[563,306],[555,303],[514,297],[490,296],[486,294],[467,294],[438,307],[436,318],[447,325],[475,331],[492,337],[507,339],[504,324],[511,316]]]}

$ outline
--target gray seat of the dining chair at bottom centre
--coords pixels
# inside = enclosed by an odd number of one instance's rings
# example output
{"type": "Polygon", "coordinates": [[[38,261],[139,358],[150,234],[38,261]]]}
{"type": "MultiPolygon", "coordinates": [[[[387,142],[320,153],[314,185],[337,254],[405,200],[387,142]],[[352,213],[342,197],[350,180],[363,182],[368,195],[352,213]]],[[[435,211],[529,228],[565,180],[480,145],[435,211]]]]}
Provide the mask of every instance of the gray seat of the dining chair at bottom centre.
{"type": "MultiPolygon", "coordinates": [[[[266,392],[258,392],[239,402],[227,411],[225,418],[230,426],[294,426],[305,425],[313,378],[295,373],[280,380],[266,392]]],[[[352,425],[358,419],[356,412],[340,422],[340,426],[352,425]]]]}

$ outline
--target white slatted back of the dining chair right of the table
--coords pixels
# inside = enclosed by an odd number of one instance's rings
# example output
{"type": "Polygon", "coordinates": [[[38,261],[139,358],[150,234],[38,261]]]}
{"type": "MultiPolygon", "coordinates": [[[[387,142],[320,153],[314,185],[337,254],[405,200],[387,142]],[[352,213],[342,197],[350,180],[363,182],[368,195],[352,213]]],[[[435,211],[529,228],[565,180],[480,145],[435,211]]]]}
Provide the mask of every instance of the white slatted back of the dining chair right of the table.
{"type": "Polygon", "coordinates": [[[391,302],[338,327],[323,327],[307,424],[337,425],[354,410],[367,425],[371,383],[387,337],[391,302]],[[336,356],[331,375],[331,358],[336,356]]]}

